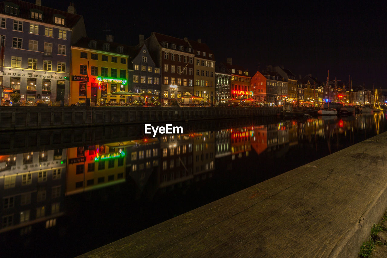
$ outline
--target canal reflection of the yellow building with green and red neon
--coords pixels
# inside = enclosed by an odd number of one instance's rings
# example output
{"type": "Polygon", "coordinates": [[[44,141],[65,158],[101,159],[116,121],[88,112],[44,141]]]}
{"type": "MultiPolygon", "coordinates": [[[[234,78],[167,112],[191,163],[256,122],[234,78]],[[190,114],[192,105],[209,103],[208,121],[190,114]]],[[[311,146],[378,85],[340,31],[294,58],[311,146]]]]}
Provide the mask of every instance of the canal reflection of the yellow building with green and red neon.
{"type": "Polygon", "coordinates": [[[125,158],[119,143],[68,148],[66,195],[125,182],[125,158]]]}

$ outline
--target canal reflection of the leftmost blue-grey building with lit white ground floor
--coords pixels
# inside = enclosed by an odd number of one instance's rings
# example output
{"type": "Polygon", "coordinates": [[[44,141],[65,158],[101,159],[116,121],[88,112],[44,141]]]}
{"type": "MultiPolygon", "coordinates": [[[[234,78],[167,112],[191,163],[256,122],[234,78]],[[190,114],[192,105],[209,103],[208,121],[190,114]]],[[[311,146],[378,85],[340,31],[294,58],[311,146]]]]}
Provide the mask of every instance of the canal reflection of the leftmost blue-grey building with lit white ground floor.
{"type": "Polygon", "coordinates": [[[62,149],[0,156],[0,233],[21,229],[24,235],[35,224],[57,224],[63,215],[65,158],[62,149]]]}

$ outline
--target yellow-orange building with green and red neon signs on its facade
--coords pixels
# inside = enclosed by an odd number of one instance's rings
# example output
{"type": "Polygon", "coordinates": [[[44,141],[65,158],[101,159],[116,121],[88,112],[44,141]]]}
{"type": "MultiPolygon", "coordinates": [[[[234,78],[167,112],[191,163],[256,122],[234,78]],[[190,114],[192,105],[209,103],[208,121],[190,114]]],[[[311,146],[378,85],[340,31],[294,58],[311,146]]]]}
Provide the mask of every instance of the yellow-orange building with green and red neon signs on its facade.
{"type": "Polygon", "coordinates": [[[86,102],[87,98],[91,105],[126,102],[125,97],[107,94],[128,89],[128,46],[113,43],[110,35],[106,39],[81,38],[72,45],[70,104],[86,102]]]}

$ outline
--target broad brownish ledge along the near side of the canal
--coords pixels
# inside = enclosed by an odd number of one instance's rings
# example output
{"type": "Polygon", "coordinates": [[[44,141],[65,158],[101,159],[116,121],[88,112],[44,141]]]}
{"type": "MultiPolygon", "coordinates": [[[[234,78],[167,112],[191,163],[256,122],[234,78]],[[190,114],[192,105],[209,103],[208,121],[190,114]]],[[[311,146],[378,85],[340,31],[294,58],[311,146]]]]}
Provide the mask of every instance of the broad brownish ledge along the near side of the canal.
{"type": "Polygon", "coordinates": [[[357,257],[387,206],[386,151],[387,132],[79,257],[357,257]]]}

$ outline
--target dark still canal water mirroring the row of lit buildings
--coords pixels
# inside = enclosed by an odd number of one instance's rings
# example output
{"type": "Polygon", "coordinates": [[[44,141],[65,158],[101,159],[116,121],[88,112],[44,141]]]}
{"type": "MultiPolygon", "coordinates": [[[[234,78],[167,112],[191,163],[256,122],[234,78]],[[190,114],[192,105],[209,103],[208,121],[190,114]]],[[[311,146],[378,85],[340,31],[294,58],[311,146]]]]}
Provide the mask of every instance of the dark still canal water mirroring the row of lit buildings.
{"type": "Polygon", "coordinates": [[[386,113],[3,133],[0,256],[73,257],[387,129],[386,113]],[[75,130],[75,131],[74,131],[75,130]]]}

